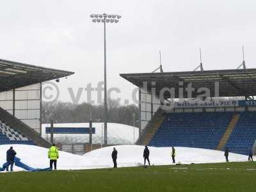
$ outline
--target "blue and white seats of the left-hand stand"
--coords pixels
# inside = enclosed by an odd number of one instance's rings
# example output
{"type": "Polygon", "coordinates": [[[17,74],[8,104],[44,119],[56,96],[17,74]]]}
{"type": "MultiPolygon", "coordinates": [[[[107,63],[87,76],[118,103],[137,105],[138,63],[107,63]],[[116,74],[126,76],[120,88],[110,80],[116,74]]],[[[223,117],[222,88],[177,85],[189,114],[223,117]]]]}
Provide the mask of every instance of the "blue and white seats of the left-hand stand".
{"type": "Polygon", "coordinates": [[[33,141],[0,120],[0,145],[3,144],[35,145],[33,141]]]}

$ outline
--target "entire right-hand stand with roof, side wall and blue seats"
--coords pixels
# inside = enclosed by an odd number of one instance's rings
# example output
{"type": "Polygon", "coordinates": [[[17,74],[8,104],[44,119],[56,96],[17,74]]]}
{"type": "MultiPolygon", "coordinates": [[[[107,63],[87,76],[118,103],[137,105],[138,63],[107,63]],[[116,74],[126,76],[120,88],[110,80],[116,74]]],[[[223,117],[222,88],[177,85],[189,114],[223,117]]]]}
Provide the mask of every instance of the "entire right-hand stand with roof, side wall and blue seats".
{"type": "Polygon", "coordinates": [[[256,68],[120,76],[139,88],[138,145],[256,154],[256,68]]]}

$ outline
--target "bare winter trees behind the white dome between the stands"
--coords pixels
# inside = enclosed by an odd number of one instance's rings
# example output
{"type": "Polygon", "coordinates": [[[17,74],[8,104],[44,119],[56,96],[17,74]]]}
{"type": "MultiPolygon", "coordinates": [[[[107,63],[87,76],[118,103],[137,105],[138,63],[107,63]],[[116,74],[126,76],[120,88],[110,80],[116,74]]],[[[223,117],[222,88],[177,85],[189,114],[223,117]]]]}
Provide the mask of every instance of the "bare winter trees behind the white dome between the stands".
{"type": "MultiPolygon", "coordinates": [[[[42,123],[46,124],[54,119],[56,123],[85,123],[90,120],[92,114],[93,122],[100,119],[104,121],[104,106],[89,103],[72,104],[71,102],[43,102],[42,123]]],[[[108,122],[126,124],[133,126],[133,115],[135,113],[135,126],[138,127],[139,109],[136,105],[121,106],[117,100],[108,101],[108,122]]]]}

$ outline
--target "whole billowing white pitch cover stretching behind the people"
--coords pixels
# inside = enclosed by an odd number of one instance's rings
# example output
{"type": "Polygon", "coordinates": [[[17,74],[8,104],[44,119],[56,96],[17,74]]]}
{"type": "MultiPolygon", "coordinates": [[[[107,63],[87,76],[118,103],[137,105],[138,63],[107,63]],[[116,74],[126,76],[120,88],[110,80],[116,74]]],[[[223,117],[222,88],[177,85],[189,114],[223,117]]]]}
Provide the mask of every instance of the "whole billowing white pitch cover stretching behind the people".
{"type": "MultiPolygon", "coordinates": [[[[6,162],[6,150],[11,145],[0,145],[0,164],[6,162]]],[[[37,147],[33,145],[12,145],[17,152],[17,157],[23,163],[33,168],[49,167],[49,159],[47,158],[47,148],[37,147]]],[[[140,145],[117,145],[118,150],[118,167],[140,166],[143,164],[144,147],[140,145]]],[[[170,155],[170,147],[148,147],[150,150],[150,163],[154,165],[172,164],[170,155]]],[[[223,152],[216,150],[208,150],[202,148],[175,147],[177,163],[221,163],[225,162],[223,152]]],[[[58,170],[79,170],[92,168],[110,168],[113,166],[111,152],[113,147],[105,147],[77,156],[67,152],[60,151],[60,159],[58,159],[58,170]]],[[[246,161],[247,156],[232,154],[229,156],[230,161],[246,161]]],[[[14,168],[16,171],[21,168],[14,168]]]]}

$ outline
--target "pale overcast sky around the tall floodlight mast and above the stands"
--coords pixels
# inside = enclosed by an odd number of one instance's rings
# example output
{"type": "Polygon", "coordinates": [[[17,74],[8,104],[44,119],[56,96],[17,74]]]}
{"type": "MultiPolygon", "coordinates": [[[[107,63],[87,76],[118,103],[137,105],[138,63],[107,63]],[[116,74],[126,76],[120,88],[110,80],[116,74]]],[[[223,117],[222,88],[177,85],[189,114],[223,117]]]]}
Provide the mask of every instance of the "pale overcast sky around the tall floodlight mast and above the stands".
{"type": "Polygon", "coordinates": [[[200,48],[205,70],[236,68],[242,45],[246,67],[255,68],[255,10],[253,0],[1,1],[0,58],[75,72],[58,83],[60,100],[70,101],[68,87],[76,94],[104,77],[103,25],[90,14],[122,15],[107,25],[108,87],[132,102],[134,86],[119,74],[152,72],[159,50],[164,72],[193,70],[200,48]]]}

